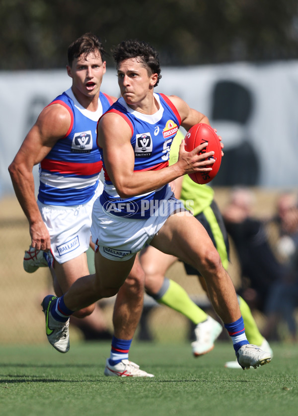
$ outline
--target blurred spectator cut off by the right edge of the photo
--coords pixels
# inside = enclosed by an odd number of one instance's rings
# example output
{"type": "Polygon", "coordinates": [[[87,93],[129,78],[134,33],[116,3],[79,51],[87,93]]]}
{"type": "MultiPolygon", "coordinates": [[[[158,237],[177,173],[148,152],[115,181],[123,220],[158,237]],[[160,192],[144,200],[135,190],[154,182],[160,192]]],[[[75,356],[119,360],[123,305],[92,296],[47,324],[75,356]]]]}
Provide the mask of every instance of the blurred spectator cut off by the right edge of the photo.
{"type": "Polygon", "coordinates": [[[266,334],[272,338],[282,318],[287,322],[292,341],[297,341],[295,309],[298,307],[298,195],[281,194],[277,201],[277,215],[273,218],[279,228],[277,253],[286,273],[270,291],[267,305],[266,334]]]}

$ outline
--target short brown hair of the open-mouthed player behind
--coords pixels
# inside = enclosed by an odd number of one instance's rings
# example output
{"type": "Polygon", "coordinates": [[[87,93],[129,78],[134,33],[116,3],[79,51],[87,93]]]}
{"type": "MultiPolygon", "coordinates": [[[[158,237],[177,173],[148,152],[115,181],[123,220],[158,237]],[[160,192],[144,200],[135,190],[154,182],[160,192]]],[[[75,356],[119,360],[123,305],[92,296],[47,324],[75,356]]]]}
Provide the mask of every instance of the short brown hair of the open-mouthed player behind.
{"type": "Polygon", "coordinates": [[[104,50],[101,41],[97,36],[93,35],[93,33],[85,33],[69,46],[67,51],[68,64],[71,66],[74,58],[78,58],[81,55],[83,58],[86,58],[90,53],[97,51],[100,53],[103,62],[106,51],[104,50]]]}

